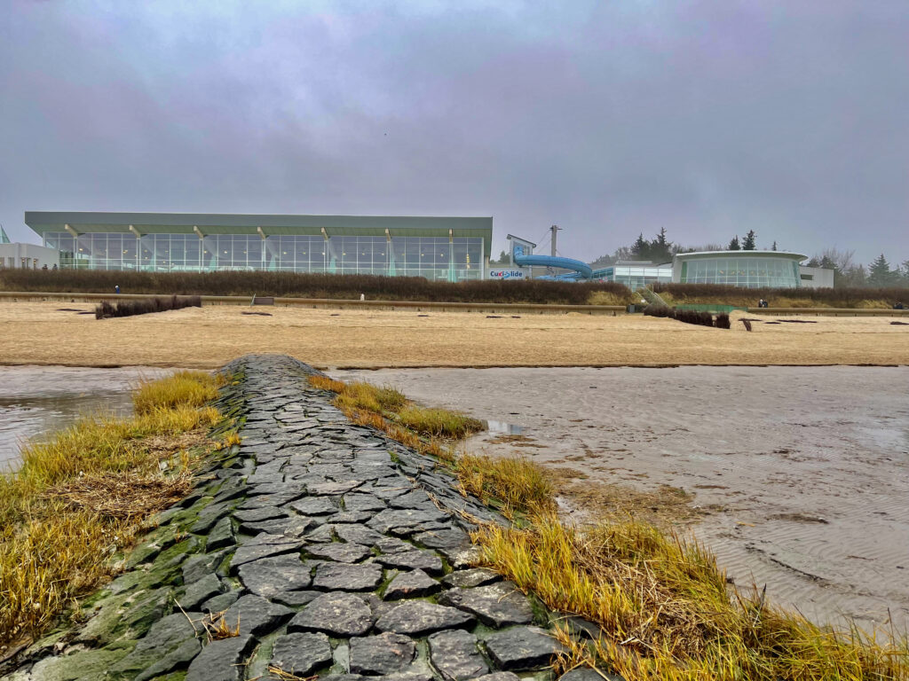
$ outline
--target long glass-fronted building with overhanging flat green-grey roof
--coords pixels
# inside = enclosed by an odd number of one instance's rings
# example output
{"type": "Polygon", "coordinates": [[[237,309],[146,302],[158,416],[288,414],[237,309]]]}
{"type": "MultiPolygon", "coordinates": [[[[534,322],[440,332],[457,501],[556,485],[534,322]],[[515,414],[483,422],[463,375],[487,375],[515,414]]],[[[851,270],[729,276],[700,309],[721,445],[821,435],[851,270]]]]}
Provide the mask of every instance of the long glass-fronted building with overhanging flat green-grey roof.
{"type": "Polygon", "coordinates": [[[492,218],[26,212],[60,266],[484,278],[492,218]]]}

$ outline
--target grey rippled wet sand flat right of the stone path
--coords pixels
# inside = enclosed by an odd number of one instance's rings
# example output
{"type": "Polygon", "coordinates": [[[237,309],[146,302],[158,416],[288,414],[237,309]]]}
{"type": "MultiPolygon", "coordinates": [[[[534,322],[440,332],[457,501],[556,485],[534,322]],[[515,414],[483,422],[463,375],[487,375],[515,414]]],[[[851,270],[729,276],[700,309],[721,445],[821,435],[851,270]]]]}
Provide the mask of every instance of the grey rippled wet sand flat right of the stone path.
{"type": "MultiPolygon", "coordinates": [[[[815,621],[909,627],[909,368],[335,371],[492,419],[472,449],[694,494],[739,586],[815,621]],[[494,444],[517,432],[533,446],[494,444]]],[[[581,509],[583,511],[583,509],[581,509]]]]}

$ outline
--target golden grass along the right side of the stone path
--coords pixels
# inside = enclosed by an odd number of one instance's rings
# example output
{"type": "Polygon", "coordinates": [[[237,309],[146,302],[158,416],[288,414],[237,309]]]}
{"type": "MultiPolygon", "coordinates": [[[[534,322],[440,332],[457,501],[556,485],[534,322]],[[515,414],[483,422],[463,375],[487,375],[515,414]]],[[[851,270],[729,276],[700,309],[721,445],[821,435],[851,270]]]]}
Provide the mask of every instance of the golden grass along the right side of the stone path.
{"type": "Polygon", "coordinates": [[[378,389],[368,384],[350,388],[324,377],[310,382],[337,393],[336,400],[359,396],[336,403],[356,423],[435,457],[454,471],[463,494],[513,521],[509,527],[479,525],[473,535],[482,551],[479,564],[546,606],[600,627],[600,637],[588,642],[569,636],[567,627],[556,632],[565,646],[554,659],[559,673],[591,666],[627,681],[909,679],[905,637],[817,627],[774,607],[754,587],[731,587],[707,548],[644,521],[565,523],[557,515],[551,474],[534,462],[457,452],[450,439],[407,429],[386,418],[394,413],[381,409],[372,392],[378,389]],[[376,405],[380,410],[370,410],[376,405]]]}

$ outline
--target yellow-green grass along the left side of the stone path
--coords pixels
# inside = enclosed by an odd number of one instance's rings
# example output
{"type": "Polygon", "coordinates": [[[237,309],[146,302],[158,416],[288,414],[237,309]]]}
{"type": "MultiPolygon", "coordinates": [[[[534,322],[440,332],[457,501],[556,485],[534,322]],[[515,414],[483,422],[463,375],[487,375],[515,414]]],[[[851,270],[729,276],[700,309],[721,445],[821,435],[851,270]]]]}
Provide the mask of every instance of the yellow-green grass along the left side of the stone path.
{"type": "Polygon", "coordinates": [[[0,646],[40,635],[114,573],[105,558],[147,514],[184,496],[195,461],[185,448],[220,419],[204,406],[214,387],[201,372],[143,383],[132,419],[80,421],[25,447],[21,468],[0,477],[0,646]]]}

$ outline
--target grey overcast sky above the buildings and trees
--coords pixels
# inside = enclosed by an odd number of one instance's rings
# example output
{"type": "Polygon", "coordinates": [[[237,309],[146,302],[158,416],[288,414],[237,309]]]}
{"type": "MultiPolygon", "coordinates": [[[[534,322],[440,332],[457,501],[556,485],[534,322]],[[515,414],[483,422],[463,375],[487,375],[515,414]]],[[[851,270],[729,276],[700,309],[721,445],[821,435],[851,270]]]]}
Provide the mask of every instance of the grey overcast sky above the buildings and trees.
{"type": "MultiPolygon", "coordinates": [[[[909,258],[909,1],[0,0],[0,222],[492,215],[909,258]]],[[[539,240],[539,241],[538,241],[539,240]]]]}

